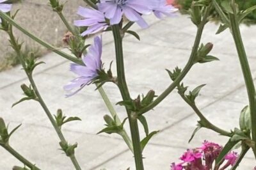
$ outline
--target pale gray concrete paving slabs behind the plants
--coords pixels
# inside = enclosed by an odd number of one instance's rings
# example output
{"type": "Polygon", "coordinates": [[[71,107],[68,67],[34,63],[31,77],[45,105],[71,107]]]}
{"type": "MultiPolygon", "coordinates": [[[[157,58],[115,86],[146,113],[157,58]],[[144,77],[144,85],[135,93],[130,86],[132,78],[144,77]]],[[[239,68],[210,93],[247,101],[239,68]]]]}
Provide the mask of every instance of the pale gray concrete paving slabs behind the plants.
{"type": "MultiPolygon", "coordinates": [[[[196,27],[187,16],[166,18],[161,21],[153,16],[146,18],[150,28],[141,30],[138,26],[132,27],[138,30],[140,42],[132,36],[126,36],[124,39],[127,83],[134,98],[139,93],[147,93],[149,89],[154,89],[156,94],[160,94],[171,82],[164,68],[182,68],[188,60],[195,38],[196,27]]],[[[241,26],[254,78],[255,28],[241,26]]],[[[202,95],[196,99],[196,103],[212,123],[230,130],[238,127],[239,112],[248,104],[248,100],[232,37],[228,31],[214,35],[217,29],[218,26],[207,24],[202,42],[214,43],[211,54],[220,58],[220,61],[196,64],[184,79],[184,83],[191,89],[200,84],[207,84],[202,89],[202,95]]],[[[115,60],[110,33],[105,33],[103,40],[102,60],[108,65],[115,60]]],[[[70,62],[52,53],[47,54],[42,60],[46,65],[36,68],[35,81],[52,114],[61,108],[65,114],[79,116],[83,120],[69,123],[63,128],[68,142],[78,143],[76,155],[83,169],[134,169],[132,154],[118,135],[96,135],[104,124],[102,116],[108,111],[99,93],[94,91],[95,87],[88,86],[74,97],[65,98],[62,87],[75,76],[68,72],[70,62]]],[[[115,65],[113,72],[115,73],[115,65]]],[[[74,169],[70,160],[58,150],[59,139],[40,105],[29,101],[11,108],[13,102],[22,97],[19,88],[22,83],[28,83],[28,80],[20,66],[0,73],[0,116],[10,123],[10,128],[22,123],[10,144],[42,169],[74,169]]],[[[114,105],[121,100],[118,89],[113,84],[106,84],[104,88],[114,105]]],[[[125,118],[123,107],[115,105],[115,109],[121,118],[125,118]]],[[[220,144],[225,144],[228,140],[227,137],[202,129],[193,141],[188,143],[198,118],[177,95],[177,91],[173,91],[154,111],[148,112],[145,116],[150,130],[160,130],[143,153],[147,170],[170,169],[170,164],[177,161],[184,150],[200,146],[205,139],[220,144]]],[[[127,125],[125,127],[127,128],[127,125]]],[[[143,129],[140,129],[143,137],[143,129]]],[[[0,154],[1,170],[22,165],[3,148],[0,148],[0,154]]],[[[250,170],[255,165],[253,154],[250,152],[238,169],[250,170]]]]}

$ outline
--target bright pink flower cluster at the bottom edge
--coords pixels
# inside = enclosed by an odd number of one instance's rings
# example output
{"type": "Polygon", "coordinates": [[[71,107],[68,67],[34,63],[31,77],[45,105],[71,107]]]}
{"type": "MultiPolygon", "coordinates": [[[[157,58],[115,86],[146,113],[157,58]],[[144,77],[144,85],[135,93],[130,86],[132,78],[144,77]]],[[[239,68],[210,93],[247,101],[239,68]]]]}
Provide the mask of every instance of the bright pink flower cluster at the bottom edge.
{"type": "Polygon", "coordinates": [[[171,170],[210,170],[219,169],[224,170],[229,166],[233,166],[237,160],[237,153],[232,151],[225,155],[225,160],[221,162],[218,167],[212,167],[214,160],[220,155],[222,146],[209,141],[204,141],[200,148],[187,150],[181,157],[179,164],[172,163],[171,170]],[[225,163],[225,164],[224,164],[225,163]]]}

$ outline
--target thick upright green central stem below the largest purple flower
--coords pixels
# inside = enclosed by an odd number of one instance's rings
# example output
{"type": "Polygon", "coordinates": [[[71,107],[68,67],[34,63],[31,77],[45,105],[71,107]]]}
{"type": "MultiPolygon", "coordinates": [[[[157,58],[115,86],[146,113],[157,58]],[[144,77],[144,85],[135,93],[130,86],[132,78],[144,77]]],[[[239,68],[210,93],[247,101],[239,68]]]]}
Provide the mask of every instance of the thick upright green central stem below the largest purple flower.
{"type": "MultiPolygon", "coordinates": [[[[124,70],[124,54],[122,47],[122,37],[120,35],[120,27],[118,25],[112,26],[113,36],[115,40],[115,51],[116,51],[116,70],[118,79],[118,88],[120,89],[122,98],[124,101],[131,100],[129,90],[125,81],[125,70],[124,70]]],[[[143,159],[142,150],[140,145],[140,133],[138,128],[138,120],[136,113],[129,111],[126,108],[129,124],[131,128],[132,144],[134,148],[134,159],[137,170],[143,170],[143,159]]]]}

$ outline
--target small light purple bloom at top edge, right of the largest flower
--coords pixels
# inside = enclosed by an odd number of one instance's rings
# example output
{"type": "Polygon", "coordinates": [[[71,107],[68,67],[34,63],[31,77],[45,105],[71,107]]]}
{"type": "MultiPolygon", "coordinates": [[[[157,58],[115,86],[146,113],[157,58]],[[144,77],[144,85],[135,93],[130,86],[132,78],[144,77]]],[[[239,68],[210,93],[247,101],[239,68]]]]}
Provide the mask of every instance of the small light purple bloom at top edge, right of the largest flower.
{"type": "Polygon", "coordinates": [[[152,10],[159,19],[162,19],[164,15],[173,16],[173,13],[178,11],[171,4],[167,4],[166,0],[158,0],[157,3],[153,4],[152,10]]]}

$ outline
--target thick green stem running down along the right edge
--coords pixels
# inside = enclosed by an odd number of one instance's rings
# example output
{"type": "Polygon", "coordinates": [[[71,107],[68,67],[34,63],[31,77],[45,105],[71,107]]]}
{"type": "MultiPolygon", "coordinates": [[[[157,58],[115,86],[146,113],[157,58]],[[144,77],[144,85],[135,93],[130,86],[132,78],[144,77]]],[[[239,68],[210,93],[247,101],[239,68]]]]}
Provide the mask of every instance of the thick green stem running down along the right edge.
{"type": "MultiPolygon", "coordinates": [[[[236,13],[236,6],[233,6],[234,13],[236,13]]],[[[239,23],[237,15],[230,13],[230,29],[234,42],[236,43],[237,54],[243,71],[244,82],[246,84],[249,104],[250,104],[250,115],[252,121],[252,140],[256,143],[256,98],[255,98],[255,86],[253,83],[252,72],[248,63],[246,52],[244,50],[243,40],[241,37],[239,23]]],[[[254,151],[256,158],[256,152],[254,151]]]]}

